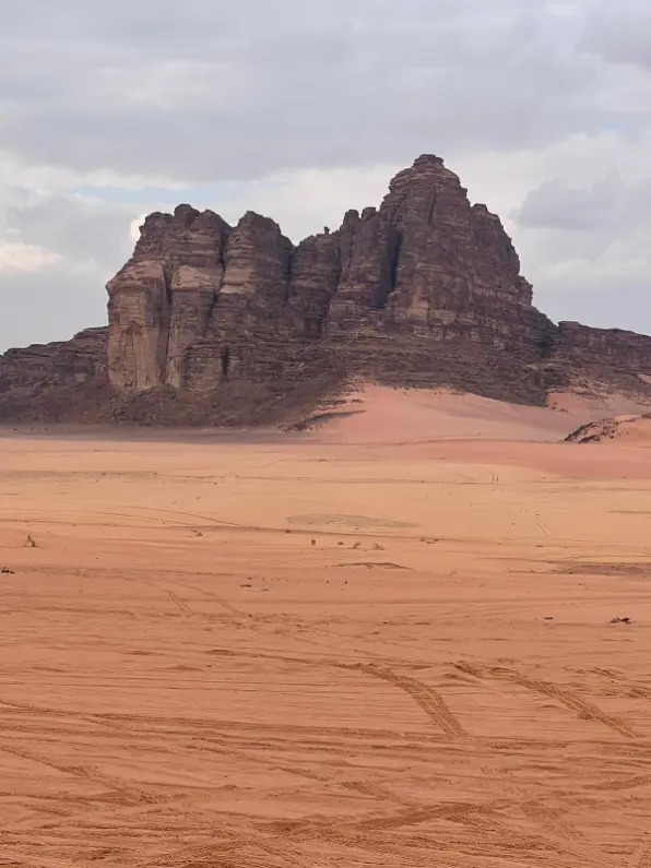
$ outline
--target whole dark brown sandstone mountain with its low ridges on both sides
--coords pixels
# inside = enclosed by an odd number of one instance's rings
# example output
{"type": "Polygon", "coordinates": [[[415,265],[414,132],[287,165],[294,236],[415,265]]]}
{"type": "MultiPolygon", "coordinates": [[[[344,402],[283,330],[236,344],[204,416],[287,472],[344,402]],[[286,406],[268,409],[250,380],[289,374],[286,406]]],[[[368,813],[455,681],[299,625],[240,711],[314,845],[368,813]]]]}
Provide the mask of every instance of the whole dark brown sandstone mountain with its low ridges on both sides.
{"type": "Polygon", "coordinates": [[[296,247],[253,212],[151,214],[107,289],[107,329],[0,356],[0,419],[275,424],[355,379],[651,401],[651,337],[552,323],[499,218],[433,155],[296,247]]]}

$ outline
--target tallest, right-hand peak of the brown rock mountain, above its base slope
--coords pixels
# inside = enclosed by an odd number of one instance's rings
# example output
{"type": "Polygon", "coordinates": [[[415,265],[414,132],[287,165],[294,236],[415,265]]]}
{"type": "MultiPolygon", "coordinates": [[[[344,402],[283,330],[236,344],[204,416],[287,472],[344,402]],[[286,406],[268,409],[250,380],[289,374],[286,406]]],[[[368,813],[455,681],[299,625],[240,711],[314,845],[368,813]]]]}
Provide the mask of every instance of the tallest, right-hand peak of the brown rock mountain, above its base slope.
{"type": "Polygon", "coordinates": [[[551,323],[531,305],[511,240],[484,205],[471,207],[439,157],[401,171],[381,214],[400,235],[395,322],[438,341],[537,354],[551,323]]]}

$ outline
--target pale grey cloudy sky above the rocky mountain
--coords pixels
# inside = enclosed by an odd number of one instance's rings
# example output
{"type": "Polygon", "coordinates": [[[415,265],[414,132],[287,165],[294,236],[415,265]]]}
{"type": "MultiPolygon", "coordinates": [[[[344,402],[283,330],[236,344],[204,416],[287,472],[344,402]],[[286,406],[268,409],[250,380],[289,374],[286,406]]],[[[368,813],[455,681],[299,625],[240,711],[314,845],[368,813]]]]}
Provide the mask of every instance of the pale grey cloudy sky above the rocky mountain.
{"type": "Polygon", "coordinates": [[[151,211],[299,240],[422,153],[552,319],[651,333],[648,0],[21,0],[0,51],[0,352],[104,324],[151,211]]]}

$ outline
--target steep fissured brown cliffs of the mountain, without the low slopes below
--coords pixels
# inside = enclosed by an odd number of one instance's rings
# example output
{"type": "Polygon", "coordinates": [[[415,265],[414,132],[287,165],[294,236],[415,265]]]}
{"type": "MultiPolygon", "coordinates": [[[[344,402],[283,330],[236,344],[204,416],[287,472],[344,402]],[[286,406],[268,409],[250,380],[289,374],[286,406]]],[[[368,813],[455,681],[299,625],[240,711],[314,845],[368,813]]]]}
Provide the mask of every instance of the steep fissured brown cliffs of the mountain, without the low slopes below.
{"type": "Polygon", "coordinates": [[[533,358],[552,329],[531,305],[498,217],[471,207],[459,178],[434,156],[400,173],[379,211],[351,211],[339,230],[296,248],[252,212],[234,229],[188,205],[154,214],[108,293],[109,377],[118,389],[218,381],[246,364],[242,343],[251,341],[402,332],[533,358]]]}

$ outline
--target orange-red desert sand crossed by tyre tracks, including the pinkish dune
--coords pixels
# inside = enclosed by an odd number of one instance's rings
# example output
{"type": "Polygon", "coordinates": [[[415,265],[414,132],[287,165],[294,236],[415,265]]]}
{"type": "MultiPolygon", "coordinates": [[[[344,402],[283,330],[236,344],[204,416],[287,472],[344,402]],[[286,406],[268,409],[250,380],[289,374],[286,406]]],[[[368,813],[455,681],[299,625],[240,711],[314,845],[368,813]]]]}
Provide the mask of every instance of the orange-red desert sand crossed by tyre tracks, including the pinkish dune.
{"type": "Polygon", "coordinates": [[[651,866],[647,441],[351,401],[0,437],[3,868],[651,866]]]}

